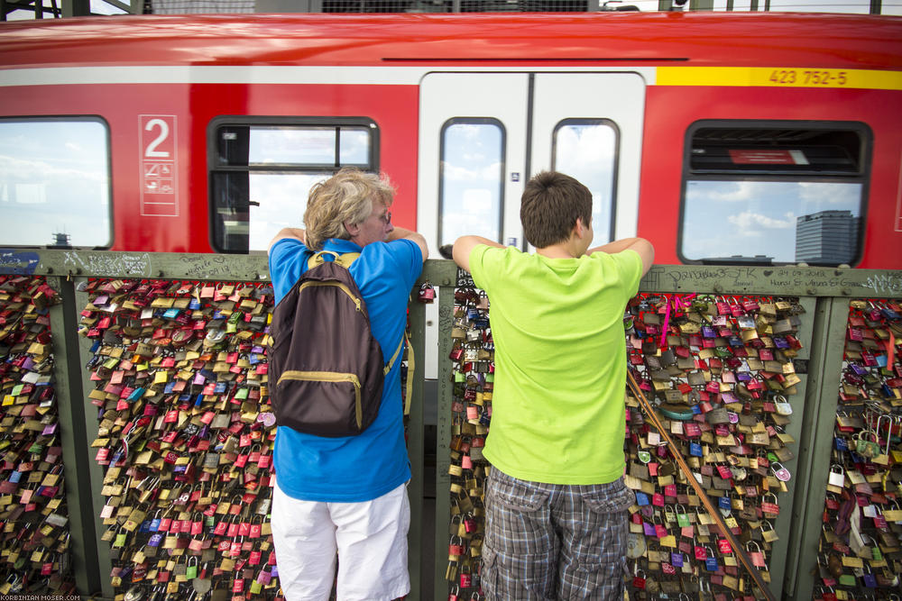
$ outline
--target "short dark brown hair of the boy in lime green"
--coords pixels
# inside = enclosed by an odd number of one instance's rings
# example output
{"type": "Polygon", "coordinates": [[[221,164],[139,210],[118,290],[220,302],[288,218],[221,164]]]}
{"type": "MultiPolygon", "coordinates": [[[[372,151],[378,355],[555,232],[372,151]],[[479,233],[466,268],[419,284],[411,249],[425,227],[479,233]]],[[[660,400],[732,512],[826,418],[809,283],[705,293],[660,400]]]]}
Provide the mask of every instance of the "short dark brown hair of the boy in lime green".
{"type": "Polygon", "coordinates": [[[526,240],[537,249],[566,241],[582,218],[592,219],[592,192],[574,178],[542,171],[527,182],[520,201],[520,222],[526,240]]]}

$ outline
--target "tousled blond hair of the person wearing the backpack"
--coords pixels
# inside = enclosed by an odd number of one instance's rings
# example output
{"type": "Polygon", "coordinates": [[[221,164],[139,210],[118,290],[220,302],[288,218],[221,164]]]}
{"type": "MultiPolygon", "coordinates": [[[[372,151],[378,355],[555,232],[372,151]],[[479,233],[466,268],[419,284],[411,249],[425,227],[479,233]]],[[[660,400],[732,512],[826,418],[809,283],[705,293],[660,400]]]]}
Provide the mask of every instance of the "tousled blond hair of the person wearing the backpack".
{"type": "Polygon", "coordinates": [[[326,181],[310,188],[304,227],[307,248],[321,250],[329,238],[348,240],[346,223],[363,223],[376,202],[391,206],[394,187],[385,175],[345,167],[326,181]]]}

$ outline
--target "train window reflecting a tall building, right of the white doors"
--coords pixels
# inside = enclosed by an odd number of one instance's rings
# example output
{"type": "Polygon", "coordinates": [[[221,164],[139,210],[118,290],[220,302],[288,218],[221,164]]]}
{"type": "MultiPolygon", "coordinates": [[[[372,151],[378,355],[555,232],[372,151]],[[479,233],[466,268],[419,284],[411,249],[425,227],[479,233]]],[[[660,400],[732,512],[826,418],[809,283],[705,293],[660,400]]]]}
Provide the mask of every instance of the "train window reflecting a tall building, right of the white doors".
{"type": "Polygon", "coordinates": [[[854,264],[870,148],[863,123],[695,123],[686,134],[681,260],[854,264]]]}

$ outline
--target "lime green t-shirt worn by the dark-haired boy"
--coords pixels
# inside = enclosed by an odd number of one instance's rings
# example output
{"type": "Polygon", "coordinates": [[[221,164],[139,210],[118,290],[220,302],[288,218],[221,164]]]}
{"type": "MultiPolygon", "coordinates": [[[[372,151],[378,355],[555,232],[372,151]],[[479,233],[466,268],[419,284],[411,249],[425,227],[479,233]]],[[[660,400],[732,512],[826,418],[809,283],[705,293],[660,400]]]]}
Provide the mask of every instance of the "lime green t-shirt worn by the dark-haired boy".
{"type": "Polygon", "coordinates": [[[505,474],[605,484],[625,467],[623,312],[639,253],[548,259],[479,245],[470,271],[491,303],[492,424],[483,454],[505,474]]]}

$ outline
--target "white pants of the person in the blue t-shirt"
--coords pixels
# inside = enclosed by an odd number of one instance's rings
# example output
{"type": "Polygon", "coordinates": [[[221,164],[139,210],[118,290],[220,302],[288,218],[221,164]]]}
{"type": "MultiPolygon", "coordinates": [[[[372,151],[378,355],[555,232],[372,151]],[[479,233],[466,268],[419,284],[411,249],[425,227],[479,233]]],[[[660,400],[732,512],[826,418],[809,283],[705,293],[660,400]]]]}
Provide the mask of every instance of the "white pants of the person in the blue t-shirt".
{"type": "Polygon", "coordinates": [[[299,501],[272,489],[272,540],[288,601],[390,601],[410,593],[407,486],[363,503],[299,501]]]}

